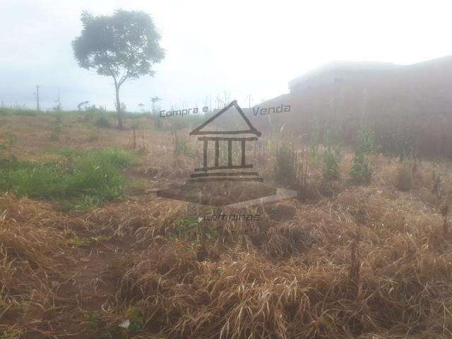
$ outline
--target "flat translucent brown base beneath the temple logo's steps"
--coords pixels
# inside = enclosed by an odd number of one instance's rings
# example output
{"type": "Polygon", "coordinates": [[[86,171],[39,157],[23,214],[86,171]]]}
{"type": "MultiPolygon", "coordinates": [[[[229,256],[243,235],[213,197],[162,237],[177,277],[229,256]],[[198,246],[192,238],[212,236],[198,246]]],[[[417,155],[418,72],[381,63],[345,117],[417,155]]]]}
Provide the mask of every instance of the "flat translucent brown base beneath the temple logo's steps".
{"type": "Polygon", "coordinates": [[[157,191],[157,196],[208,206],[244,208],[297,196],[263,182],[188,182],[157,191]]]}

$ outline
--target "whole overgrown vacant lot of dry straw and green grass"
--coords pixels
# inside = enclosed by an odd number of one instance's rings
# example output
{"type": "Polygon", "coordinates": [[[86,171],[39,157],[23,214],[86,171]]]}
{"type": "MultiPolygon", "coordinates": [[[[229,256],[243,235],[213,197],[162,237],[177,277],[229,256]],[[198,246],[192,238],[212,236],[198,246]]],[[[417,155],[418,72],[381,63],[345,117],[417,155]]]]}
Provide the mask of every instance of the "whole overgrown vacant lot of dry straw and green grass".
{"type": "Polygon", "coordinates": [[[452,337],[450,162],[367,150],[363,177],[264,133],[249,158],[299,196],[211,208],[155,194],[198,165],[188,129],[28,115],[0,116],[1,339],[452,337]]]}

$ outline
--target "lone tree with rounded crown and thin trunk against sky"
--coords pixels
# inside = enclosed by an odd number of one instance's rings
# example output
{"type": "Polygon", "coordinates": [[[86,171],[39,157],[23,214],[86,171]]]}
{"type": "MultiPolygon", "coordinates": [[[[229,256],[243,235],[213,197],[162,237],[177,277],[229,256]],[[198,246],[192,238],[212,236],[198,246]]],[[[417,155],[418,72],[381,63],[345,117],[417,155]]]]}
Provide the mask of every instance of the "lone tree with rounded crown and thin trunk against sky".
{"type": "Polygon", "coordinates": [[[162,61],[160,34],[153,19],[142,11],[117,10],[112,16],[81,14],[83,30],[72,42],[78,65],[111,76],[116,93],[118,128],[123,128],[119,89],[127,80],[154,75],[153,65],[162,61]]]}

